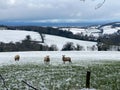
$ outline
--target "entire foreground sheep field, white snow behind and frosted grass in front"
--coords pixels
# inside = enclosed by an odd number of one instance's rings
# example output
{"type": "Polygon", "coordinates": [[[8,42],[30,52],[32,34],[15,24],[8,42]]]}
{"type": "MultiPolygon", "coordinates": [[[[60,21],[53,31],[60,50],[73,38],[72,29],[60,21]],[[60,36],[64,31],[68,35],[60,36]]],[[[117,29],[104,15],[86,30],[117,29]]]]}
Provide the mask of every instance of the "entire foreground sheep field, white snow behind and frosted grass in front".
{"type": "Polygon", "coordinates": [[[87,71],[91,71],[91,90],[119,90],[119,66],[120,52],[116,51],[1,52],[0,74],[5,84],[0,78],[0,90],[86,90],[87,71]],[[14,61],[16,54],[20,61],[14,61]],[[46,55],[50,65],[44,64],[46,55]],[[72,64],[63,64],[62,55],[71,57],[72,64]]]}

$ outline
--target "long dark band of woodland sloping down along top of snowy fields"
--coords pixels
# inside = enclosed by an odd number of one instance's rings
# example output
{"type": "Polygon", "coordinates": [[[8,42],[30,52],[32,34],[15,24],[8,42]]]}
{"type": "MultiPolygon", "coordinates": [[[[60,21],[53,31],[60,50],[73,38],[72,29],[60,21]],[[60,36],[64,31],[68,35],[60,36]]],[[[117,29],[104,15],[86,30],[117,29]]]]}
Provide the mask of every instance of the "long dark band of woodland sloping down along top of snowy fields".
{"type": "MultiPolygon", "coordinates": [[[[97,41],[93,35],[84,35],[83,33],[73,34],[69,30],[61,30],[58,28],[53,27],[41,27],[41,26],[6,26],[8,29],[11,30],[27,30],[27,31],[35,31],[38,32],[41,37],[42,34],[50,34],[50,35],[57,35],[61,37],[77,39],[77,40],[85,40],[85,41],[97,41]]],[[[42,40],[43,41],[43,40],[42,40]]]]}

